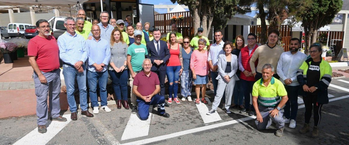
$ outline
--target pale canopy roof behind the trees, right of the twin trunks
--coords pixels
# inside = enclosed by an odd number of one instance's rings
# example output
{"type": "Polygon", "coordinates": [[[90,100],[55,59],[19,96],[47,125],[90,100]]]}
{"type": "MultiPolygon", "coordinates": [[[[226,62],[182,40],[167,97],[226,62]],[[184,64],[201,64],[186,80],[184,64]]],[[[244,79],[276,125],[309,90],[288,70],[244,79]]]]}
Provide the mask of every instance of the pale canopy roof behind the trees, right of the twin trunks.
{"type": "Polygon", "coordinates": [[[227,23],[227,25],[257,25],[257,18],[247,16],[245,14],[235,14],[227,23]]]}

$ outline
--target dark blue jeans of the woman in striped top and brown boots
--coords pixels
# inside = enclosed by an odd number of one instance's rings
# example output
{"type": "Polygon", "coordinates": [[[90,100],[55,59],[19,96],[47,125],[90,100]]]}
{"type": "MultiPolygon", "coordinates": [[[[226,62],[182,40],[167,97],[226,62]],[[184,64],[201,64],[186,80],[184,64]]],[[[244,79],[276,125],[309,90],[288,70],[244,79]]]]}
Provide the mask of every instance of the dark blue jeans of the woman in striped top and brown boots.
{"type": "Polygon", "coordinates": [[[122,72],[116,72],[114,70],[108,71],[111,79],[113,80],[113,88],[116,95],[116,99],[127,100],[127,81],[128,81],[128,70],[122,72]]]}

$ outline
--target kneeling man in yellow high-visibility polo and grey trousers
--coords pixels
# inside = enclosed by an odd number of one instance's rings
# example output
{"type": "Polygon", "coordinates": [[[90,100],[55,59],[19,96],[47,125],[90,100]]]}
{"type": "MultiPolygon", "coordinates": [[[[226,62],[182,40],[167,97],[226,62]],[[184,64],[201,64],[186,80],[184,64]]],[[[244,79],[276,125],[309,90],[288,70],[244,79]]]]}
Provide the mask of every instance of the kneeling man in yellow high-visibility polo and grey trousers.
{"type": "Polygon", "coordinates": [[[255,124],[258,130],[263,130],[268,128],[274,121],[278,128],[275,135],[283,136],[285,124],[281,107],[285,105],[288,97],[281,81],[273,77],[273,70],[273,65],[265,64],[262,67],[262,78],[253,84],[252,104],[257,114],[255,124]]]}

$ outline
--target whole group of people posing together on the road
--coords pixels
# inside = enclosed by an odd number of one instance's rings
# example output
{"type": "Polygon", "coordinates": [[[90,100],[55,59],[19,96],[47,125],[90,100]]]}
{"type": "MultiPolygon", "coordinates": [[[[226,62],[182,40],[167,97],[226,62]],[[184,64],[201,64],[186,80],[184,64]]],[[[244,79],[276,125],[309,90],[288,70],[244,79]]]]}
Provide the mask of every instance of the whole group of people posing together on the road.
{"type": "Polygon", "coordinates": [[[202,35],[202,28],[191,40],[178,33],[176,24],[172,24],[166,42],[160,40],[160,30],[153,29],[149,23],[145,23],[146,30],[143,31],[141,23],[137,23],[134,30],[132,25],[125,24],[121,19],[109,20],[106,11],[100,15],[101,22],[93,25],[84,20],[86,15],[83,10],[78,11],[77,17],[65,18],[67,31],[57,42],[50,35],[50,24],[40,19],[36,23],[39,35],[28,43],[29,62],[34,69],[38,132],[47,131],[47,94],[51,119],[66,121],[59,115],[61,59],[72,120],[77,120],[75,83],[79,88],[82,115],[93,117],[99,113],[97,85],[101,110],[111,111],[107,106],[106,92],[109,74],[117,108],[130,108],[127,100],[129,85],[131,113],[138,112],[141,120],[147,120],[150,105],[157,106],[158,115],[170,117],[165,112],[165,106],[172,102],[180,104],[178,83],[181,101],[192,102],[194,84],[195,104],[208,104],[205,93],[210,74],[215,98],[207,115],[216,112],[223,98],[222,109],[226,113],[231,113],[230,108],[240,108],[240,113],[256,115],[258,130],[268,128],[274,121],[278,128],[275,135],[282,136],[285,123],[289,123],[289,128],[296,127],[297,100],[301,95],[306,110],[304,127],[299,132],[304,134],[310,131],[309,123],[314,110],[312,136],[318,137],[321,107],[328,103],[327,87],[332,76],[331,66],[321,58],[320,43],[310,46],[310,57],[307,58],[298,51],[301,43],[297,38],[291,39],[290,51],[284,52],[277,45],[280,35],[277,30],[269,30],[268,42],[262,46],[256,44],[254,33],[247,35],[245,46],[242,35],[236,37],[235,43],[223,42],[223,34],[217,30],[214,33],[215,43],[210,45],[202,35]],[[166,77],[167,103],[164,98],[166,77]],[[93,114],[88,111],[87,87],[93,114]],[[281,112],[282,107],[284,113],[281,112]]]}

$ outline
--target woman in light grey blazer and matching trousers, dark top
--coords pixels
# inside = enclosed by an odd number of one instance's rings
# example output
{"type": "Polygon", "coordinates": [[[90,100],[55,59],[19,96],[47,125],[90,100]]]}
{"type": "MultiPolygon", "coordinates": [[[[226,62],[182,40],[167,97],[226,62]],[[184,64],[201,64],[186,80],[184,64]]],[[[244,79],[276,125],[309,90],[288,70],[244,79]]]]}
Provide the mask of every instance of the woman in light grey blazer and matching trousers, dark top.
{"type": "Polygon", "coordinates": [[[212,109],[207,112],[207,115],[211,115],[212,113],[216,112],[223,97],[224,91],[225,106],[223,106],[222,109],[227,114],[231,113],[229,110],[231,96],[233,95],[235,81],[239,80],[236,75],[236,71],[238,69],[238,59],[236,55],[231,54],[233,49],[235,49],[233,43],[226,41],[223,45],[223,50],[225,53],[218,56],[218,76],[216,78],[218,80],[217,94],[215,96],[212,109]]]}

